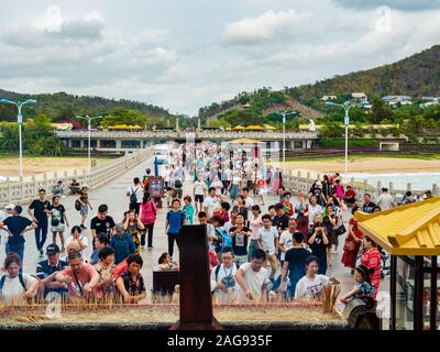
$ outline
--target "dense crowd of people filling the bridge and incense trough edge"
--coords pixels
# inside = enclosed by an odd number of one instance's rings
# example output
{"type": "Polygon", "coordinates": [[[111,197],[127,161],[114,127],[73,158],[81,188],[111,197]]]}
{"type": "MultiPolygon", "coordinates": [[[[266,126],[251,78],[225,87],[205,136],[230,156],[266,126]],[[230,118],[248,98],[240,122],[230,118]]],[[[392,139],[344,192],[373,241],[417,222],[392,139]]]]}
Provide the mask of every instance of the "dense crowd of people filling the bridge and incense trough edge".
{"type": "MultiPolygon", "coordinates": [[[[340,175],[334,174],[316,180],[307,196],[294,199],[283,185],[279,168],[266,165],[257,151],[222,150],[211,143],[176,147],[161,176],[168,207],[168,249],[158,258],[160,268],[178,268],[173,256],[180,229],[198,223],[207,229],[211,290],[219,301],[319,299],[323,286],[339,283],[328,273],[341,244],[341,262],[355,282],[341,301],[356,296],[375,299],[382,250],[362,233],[354,217],[343,217],[349,208],[354,215],[356,210],[373,213],[397,206],[386,188],[376,204],[369,194],[360,204],[355,191],[350,186],[344,189],[340,175]],[[267,195],[277,199],[263,211],[267,195]]],[[[89,222],[91,243],[86,221],[94,208],[87,186],[75,185],[75,209],[80,222],[72,228],[62,204],[63,193],[54,194],[50,201],[46,191],[40,189],[38,198],[28,207],[29,218],[22,216],[21,206],[7,206],[7,212],[0,213],[7,253],[6,275],[0,279],[1,300],[44,300],[50,293],[61,294],[66,300],[144,299],[147,287],[141,268],[143,256],[148,255],[145,245],[150,252],[153,249],[158,212],[148,193],[151,169],[146,169],[142,178],[135,177],[128,186],[128,207],[121,221],[114,221],[107,205],[97,207],[98,213],[89,222]],[[70,234],[66,239],[68,228],[70,234]],[[46,258],[37,264],[35,275],[23,273],[26,231],[35,232],[41,257],[48,231],[53,234],[45,248],[46,258]],[[89,246],[92,254],[88,257],[89,246]]],[[[409,201],[410,195],[404,204],[409,201]]]]}

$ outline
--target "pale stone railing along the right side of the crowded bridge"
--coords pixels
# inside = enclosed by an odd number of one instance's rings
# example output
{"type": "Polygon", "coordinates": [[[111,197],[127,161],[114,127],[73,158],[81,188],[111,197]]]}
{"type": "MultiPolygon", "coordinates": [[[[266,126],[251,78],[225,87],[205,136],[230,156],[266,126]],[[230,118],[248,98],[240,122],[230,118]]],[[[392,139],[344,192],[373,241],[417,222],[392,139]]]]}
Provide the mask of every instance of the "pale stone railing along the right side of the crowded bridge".
{"type": "MultiPolygon", "coordinates": [[[[305,197],[308,197],[309,190],[311,188],[311,185],[317,179],[322,180],[322,175],[317,174],[317,178],[312,178],[310,176],[310,173],[301,173],[301,172],[290,172],[286,177],[283,177],[283,183],[289,191],[292,191],[294,195],[299,195],[304,194],[305,197]]],[[[397,202],[402,200],[404,197],[405,193],[410,190],[413,195],[420,194],[424,195],[427,189],[413,189],[411,184],[407,184],[406,189],[395,189],[393,183],[388,183],[388,185],[382,184],[381,182],[377,182],[377,184],[371,185],[369,184],[369,180],[364,182],[356,182],[354,178],[351,178],[350,182],[344,182],[343,186],[346,188],[346,186],[350,185],[354,191],[356,193],[356,201],[362,204],[363,195],[364,194],[370,194],[372,196],[372,200],[375,201],[377,200],[378,196],[381,195],[381,188],[382,187],[387,187],[388,188],[388,194],[393,196],[393,199],[395,199],[397,202]]],[[[439,197],[440,196],[440,188],[437,186],[437,184],[433,184],[431,187],[431,193],[433,197],[439,197]]]]}

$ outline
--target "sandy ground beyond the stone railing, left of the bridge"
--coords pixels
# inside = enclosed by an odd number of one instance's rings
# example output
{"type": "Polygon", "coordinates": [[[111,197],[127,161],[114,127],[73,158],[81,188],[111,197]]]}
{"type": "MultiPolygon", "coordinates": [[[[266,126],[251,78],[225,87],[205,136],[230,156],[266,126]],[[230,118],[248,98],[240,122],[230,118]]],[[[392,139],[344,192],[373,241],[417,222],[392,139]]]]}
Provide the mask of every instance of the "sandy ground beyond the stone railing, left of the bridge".
{"type": "MultiPolygon", "coordinates": [[[[98,165],[108,162],[108,158],[98,158],[98,165]]],[[[46,172],[64,172],[75,168],[87,168],[87,157],[23,157],[23,174],[34,176],[46,172]]],[[[0,158],[0,176],[19,176],[19,157],[0,158]]]]}

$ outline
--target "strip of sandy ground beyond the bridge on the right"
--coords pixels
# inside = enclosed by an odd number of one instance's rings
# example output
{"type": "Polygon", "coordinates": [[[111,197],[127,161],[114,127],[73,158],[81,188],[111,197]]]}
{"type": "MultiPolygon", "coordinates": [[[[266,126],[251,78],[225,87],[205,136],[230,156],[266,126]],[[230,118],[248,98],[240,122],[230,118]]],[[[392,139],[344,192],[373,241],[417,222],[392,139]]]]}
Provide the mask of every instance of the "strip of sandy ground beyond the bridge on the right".
{"type": "MultiPolygon", "coordinates": [[[[393,157],[350,157],[350,173],[435,173],[440,172],[440,160],[393,158],[393,157]]],[[[343,173],[344,160],[287,162],[286,170],[311,169],[319,173],[343,173]]]]}

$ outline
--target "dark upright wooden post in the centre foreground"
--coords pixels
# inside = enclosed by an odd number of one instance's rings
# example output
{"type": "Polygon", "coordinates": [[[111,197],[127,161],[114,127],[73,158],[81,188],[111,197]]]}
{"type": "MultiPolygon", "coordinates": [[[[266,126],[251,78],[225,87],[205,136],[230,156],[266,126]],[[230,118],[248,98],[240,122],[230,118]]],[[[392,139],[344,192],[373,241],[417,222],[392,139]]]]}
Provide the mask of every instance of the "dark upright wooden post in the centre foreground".
{"type": "Polygon", "coordinates": [[[178,248],[180,319],[170,330],[221,330],[212,315],[206,226],[184,226],[178,248]]]}

